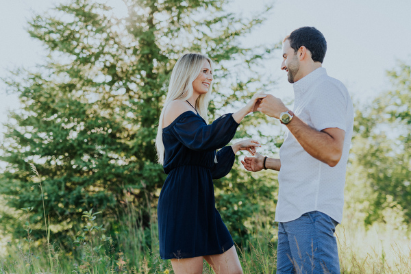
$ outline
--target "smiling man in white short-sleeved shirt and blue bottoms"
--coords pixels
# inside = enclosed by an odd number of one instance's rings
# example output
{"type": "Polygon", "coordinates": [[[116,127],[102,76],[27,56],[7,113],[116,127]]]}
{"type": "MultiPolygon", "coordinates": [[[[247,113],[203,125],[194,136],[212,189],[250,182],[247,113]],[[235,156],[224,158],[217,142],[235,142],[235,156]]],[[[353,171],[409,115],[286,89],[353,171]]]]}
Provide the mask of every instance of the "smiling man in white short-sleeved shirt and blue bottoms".
{"type": "Polygon", "coordinates": [[[334,232],[343,218],[353,105],[345,86],[322,67],[326,50],[314,27],[284,39],[281,69],[293,83],[294,111],[273,95],[258,107],[288,128],[279,159],[257,153],[242,161],[248,171],[279,171],[277,274],[340,273],[334,232]]]}

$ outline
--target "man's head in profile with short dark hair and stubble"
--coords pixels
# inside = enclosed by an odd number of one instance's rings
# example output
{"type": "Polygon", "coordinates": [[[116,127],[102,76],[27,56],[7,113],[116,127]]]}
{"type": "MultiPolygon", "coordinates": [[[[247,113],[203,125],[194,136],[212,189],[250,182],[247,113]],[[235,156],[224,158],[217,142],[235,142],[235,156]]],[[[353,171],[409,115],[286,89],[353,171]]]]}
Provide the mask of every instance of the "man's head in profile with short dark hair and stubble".
{"type": "Polygon", "coordinates": [[[321,66],[327,51],[327,42],[315,27],[295,29],[283,42],[281,69],[288,72],[288,82],[297,82],[321,66]]]}

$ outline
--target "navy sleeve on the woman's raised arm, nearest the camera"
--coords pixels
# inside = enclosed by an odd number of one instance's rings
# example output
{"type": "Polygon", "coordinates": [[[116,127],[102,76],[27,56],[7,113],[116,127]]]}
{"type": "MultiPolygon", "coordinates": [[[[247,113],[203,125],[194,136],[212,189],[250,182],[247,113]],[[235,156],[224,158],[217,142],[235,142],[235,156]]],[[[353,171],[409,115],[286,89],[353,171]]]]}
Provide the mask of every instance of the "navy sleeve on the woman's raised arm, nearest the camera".
{"type": "Polygon", "coordinates": [[[227,145],[236,134],[237,127],[232,114],[225,114],[207,125],[200,116],[190,112],[178,119],[173,129],[175,137],[189,149],[210,151],[227,145]]]}

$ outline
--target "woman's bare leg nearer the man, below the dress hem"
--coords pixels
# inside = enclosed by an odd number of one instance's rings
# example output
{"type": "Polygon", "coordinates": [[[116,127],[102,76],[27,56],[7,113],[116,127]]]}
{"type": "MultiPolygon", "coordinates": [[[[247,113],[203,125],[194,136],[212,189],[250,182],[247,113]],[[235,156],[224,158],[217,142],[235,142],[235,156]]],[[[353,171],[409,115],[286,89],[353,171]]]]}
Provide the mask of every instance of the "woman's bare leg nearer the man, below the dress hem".
{"type": "Polygon", "coordinates": [[[236,247],[228,249],[222,254],[204,256],[216,274],[242,274],[240,260],[236,247]]]}

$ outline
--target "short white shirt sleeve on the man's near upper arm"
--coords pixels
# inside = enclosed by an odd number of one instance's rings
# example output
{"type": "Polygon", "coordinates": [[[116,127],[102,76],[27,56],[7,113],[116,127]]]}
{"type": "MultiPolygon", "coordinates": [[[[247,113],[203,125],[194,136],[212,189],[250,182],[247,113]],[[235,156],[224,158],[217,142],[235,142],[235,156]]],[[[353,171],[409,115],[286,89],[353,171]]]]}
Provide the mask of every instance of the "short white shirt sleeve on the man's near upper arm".
{"type": "Polygon", "coordinates": [[[323,82],[316,88],[316,94],[309,102],[312,127],[321,131],[338,127],[346,131],[347,127],[347,89],[341,84],[323,82]]]}

